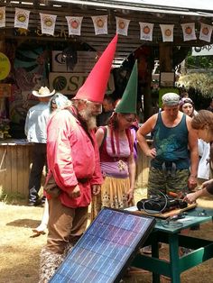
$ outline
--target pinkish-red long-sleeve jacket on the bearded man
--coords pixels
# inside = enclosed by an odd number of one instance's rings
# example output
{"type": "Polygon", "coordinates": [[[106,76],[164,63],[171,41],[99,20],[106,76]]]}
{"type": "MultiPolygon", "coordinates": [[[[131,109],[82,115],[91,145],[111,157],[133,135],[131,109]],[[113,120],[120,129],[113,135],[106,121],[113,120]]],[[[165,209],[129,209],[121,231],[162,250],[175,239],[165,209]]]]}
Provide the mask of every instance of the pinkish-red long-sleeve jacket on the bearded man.
{"type": "MultiPolygon", "coordinates": [[[[72,108],[72,111],[76,110],[72,108]]],[[[90,135],[93,144],[69,110],[53,114],[47,126],[47,179],[52,172],[61,188],[61,203],[72,208],[88,206],[91,202],[91,185],[103,182],[95,132],[91,131],[90,135]],[[88,181],[81,183],[82,178],[88,178],[88,181]],[[67,192],[71,192],[78,184],[80,196],[69,197],[67,192]]]]}

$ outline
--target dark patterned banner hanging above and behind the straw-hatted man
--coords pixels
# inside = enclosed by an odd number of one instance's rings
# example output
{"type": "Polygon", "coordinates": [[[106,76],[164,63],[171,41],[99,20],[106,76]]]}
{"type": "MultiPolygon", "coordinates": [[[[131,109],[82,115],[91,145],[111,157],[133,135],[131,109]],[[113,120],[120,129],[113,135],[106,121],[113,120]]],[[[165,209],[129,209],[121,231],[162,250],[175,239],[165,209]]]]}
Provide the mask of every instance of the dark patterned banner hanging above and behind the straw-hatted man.
{"type": "Polygon", "coordinates": [[[20,131],[23,129],[28,109],[38,103],[37,97],[32,95],[32,90],[38,90],[42,86],[48,87],[46,77],[48,61],[48,52],[42,47],[25,50],[20,46],[15,51],[14,84],[9,112],[11,121],[20,124],[20,131]]]}

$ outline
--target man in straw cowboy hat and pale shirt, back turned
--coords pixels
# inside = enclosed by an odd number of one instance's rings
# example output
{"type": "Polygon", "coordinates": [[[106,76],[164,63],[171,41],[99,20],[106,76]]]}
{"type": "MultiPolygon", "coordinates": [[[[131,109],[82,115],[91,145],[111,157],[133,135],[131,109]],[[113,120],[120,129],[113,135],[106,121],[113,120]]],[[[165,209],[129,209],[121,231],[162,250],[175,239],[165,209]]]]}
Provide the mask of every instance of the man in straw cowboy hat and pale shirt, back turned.
{"type": "Polygon", "coordinates": [[[32,142],[32,169],[29,178],[29,206],[41,205],[39,190],[42,181],[43,166],[46,165],[47,122],[50,116],[49,100],[53,96],[48,87],[33,90],[32,95],[38,97],[40,103],[32,106],[26,116],[24,132],[28,142],[32,142]]]}

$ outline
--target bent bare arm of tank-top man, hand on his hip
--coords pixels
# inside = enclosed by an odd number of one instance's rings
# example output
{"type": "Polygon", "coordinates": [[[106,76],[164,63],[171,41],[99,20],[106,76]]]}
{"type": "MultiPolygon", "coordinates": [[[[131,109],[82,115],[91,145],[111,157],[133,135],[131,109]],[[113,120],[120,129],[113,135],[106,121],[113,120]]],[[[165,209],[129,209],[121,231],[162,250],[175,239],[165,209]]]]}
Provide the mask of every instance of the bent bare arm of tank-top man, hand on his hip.
{"type": "Polygon", "coordinates": [[[146,142],[145,136],[153,131],[153,127],[157,121],[157,115],[158,114],[154,114],[152,117],[150,117],[136,133],[137,142],[140,145],[142,151],[144,151],[144,154],[146,156],[150,156],[152,158],[156,156],[156,151],[154,148],[150,149],[148,143],[146,142]]]}

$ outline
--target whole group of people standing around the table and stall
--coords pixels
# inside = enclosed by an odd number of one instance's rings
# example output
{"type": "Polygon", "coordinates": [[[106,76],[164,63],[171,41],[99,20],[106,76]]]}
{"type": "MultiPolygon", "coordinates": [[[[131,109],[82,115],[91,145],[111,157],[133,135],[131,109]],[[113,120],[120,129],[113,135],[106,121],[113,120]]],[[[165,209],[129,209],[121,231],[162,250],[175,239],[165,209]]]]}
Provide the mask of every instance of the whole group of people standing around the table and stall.
{"type": "Polygon", "coordinates": [[[47,87],[32,92],[40,103],[29,110],[25,123],[27,139],[34,145],[29,205],[45,203],[42,223],[34,233],[48,228],[41,283],[50,280],[85,232],[88,205],[91,221],[104,206],[134,205],[137,146],[151,159],[147,197],[162,193],[191,204],[199,196],[213,194],[209,145],[213,113],[197,112],[189,96],[166,93],[162,109],[139,127],[136,60],[121,99],[105,95],[116,42],[117,35],[71,101],[47,87]],[[146,140],[149,133],[152,147],[146,140]],[[51,184],[51,190],[44,190],[40,198],[44,166],[44,188],[51,184]],[[200,189],[194,191],[198,184],[200,189]]]}

